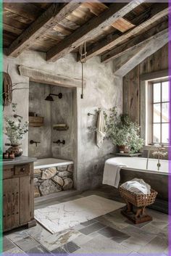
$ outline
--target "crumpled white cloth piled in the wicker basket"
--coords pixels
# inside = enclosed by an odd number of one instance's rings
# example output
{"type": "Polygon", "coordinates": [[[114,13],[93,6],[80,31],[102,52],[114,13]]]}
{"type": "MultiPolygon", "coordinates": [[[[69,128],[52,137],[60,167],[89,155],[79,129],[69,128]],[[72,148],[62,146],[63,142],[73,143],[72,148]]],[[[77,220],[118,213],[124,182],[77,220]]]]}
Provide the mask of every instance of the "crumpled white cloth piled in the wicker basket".
{"type": "Polygon", "coordinates": [[[132,181],[127,181],[121,186],[135,194],[151,194],[151,186],[142,179],[133,178],[132,181]]]}

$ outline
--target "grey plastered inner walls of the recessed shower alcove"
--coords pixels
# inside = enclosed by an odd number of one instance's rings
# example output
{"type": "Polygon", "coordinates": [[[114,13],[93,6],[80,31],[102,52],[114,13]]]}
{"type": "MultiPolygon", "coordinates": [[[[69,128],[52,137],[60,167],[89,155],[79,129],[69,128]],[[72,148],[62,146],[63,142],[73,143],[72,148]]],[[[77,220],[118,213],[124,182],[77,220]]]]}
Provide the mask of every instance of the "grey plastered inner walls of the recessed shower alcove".
{"type": "Polygon", "coordinates": [[[30,81],[29,86],[29,113],[43,117],[43,124],[39,127],[29,125],[28,131],[28,154],[37,158],[62,158],[66,160],[74,159],[75,143],[75,111],[74,102],[75,88],[62,86],[50,86],[43,83],[30,81]],[[62,99],[53,96],[54,101],[46,101],[49,94],[62,93],[62,99]],[[66,124],[67,129],[58,131],[54,125],[66,124]],[[30,141],[40,143],[30,144],[30,141]],[[54,141],[65,141],[65,144],[57,144],[54,141]]]}

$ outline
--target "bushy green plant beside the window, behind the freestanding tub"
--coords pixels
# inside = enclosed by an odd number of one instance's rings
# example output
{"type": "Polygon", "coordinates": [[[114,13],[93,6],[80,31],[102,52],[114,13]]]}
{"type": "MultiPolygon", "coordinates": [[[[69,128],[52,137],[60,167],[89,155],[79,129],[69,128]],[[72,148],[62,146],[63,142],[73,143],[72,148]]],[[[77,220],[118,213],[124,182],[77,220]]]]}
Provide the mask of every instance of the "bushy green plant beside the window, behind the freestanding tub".
{"type": "Polygon", "coordinates": [[[139,136],[140,127],[131,122],[128,115],[118,115],[117,108],[113,107],[108,114],[104,112],[104,116],[107,137],[119,147],[120,152],[133,154],[143,147],[144,141],[139,136]]]}

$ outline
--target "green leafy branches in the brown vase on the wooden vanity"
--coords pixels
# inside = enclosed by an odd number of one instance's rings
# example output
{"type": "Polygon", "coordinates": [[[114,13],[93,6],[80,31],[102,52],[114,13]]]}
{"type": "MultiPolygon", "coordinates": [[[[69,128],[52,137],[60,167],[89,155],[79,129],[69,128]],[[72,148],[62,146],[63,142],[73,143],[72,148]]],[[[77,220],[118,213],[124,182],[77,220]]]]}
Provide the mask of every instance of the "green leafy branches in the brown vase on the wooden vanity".
{"type": "Polygon", "coordinates": [[[12,104],[13,115],[4,117],[4,134],[12,145],[20,145],[25,133],[28,132],[28,122],[22,123],[23,117],[16,113],[17,104],[12,104]]]}

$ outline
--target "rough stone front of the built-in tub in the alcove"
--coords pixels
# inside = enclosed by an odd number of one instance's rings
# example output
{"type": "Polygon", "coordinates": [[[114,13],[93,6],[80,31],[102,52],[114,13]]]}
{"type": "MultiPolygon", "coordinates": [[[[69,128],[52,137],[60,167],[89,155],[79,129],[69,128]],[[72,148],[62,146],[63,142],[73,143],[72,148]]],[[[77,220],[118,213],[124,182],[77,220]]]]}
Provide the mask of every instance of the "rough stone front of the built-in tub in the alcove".
{"type": "Polygon", "coordinates": [[[59,165],[57,167],[34,170],[34,195],[43,197],[73,187],[74,165],[59,165]]]}

